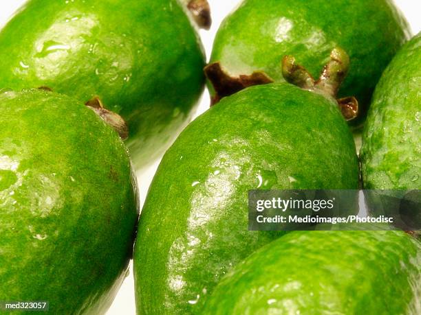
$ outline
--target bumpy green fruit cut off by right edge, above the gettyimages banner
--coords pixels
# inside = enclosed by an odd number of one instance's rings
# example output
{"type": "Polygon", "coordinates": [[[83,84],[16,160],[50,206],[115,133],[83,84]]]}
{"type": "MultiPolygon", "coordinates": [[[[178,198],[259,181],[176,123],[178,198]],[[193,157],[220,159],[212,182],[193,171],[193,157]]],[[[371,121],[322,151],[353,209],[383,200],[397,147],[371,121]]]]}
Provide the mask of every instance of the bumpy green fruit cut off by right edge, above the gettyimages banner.
{"type": "Polygon", "coordinates": [[[398,52],[376,86],[363,132],[367,189],[421,189],[421,34],[398,52]]]}

